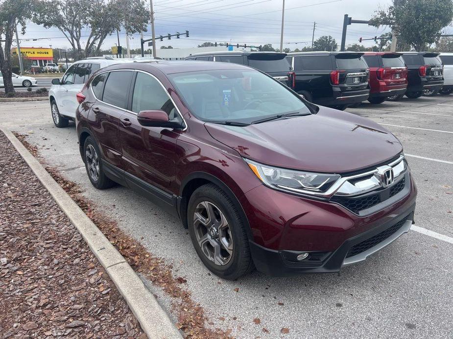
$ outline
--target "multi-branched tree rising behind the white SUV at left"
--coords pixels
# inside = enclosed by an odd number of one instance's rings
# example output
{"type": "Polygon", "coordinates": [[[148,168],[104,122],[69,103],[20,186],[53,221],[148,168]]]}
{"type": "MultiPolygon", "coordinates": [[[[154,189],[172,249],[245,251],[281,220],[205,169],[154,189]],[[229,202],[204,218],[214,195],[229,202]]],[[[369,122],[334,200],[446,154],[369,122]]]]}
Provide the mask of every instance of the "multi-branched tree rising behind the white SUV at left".
{"type": "Polygon", "coordinates": [[[144,0],[40,0],[33,18],[46,28],[58,28],[76,51],[76,59],[97,55],[105,38],[117,30],[146,31],[149,20],[144,0]]]}

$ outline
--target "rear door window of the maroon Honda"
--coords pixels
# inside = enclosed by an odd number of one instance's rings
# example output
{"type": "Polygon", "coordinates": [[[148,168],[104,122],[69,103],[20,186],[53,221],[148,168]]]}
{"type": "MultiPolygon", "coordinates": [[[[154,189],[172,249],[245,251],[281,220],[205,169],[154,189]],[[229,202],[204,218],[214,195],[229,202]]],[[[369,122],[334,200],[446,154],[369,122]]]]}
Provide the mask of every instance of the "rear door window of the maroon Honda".
{"type": "Polygon", "coordinates": [[[102,101],[126,109],[132,74],[132,71],[110,72],[104,86],[102,101]]]}

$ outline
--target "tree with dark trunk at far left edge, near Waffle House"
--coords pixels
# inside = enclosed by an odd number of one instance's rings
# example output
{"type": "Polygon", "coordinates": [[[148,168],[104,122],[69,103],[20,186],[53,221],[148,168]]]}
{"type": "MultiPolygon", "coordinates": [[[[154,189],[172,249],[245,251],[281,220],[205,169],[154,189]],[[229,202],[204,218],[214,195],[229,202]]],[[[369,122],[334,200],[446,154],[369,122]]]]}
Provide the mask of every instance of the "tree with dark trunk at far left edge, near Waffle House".
{"type": "Polygon", "coordinates": [[[0,70],[5,93],[14,93],[11,78],[11,45],[18,24],[25,33],[25,21],[32,16],[36,0],[0,0],[0,70]]]}

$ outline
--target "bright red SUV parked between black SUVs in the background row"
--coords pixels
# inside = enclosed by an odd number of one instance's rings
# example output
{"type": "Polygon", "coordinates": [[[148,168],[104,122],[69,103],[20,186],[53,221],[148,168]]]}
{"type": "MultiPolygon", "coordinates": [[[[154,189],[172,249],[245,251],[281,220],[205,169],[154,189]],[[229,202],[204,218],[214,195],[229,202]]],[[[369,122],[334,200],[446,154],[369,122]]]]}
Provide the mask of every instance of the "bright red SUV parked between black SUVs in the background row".
{"type": "Polygon", "coordinates": [[[370,103],[381,104],[389,96],[404,95],[407,67],[401,53],[365,52],[362,58],[370,69],[370,103]]]}

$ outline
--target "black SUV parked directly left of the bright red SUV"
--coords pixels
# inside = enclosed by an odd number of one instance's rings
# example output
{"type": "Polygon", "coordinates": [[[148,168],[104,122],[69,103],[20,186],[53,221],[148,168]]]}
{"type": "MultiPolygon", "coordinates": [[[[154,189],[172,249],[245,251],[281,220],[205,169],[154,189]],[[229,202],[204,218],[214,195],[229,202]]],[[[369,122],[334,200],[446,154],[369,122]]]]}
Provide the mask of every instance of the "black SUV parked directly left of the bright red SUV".
{"type": "Polygon", "coordinates": [[[368,99],[368,66],[356,52],[288,53],[294,73],[294,90],[306,100],[345,109],[368,99]]]}

